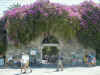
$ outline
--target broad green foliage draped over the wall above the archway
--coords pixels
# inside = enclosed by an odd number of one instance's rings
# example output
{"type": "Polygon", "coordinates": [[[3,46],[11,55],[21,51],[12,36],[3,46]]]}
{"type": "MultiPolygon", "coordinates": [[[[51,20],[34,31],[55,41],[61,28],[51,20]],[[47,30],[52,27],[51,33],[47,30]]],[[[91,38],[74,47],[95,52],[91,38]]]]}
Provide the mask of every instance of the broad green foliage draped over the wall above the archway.
{"type": "Polygon", "coordinates": [[[15,43],[28,44],[43,32],[52,33],[52,35],[65,40],[76,37],[79,29],[78,18],[70,17],[64,9],[60,10],[61,14],[56,8],[41,7],[45,13],[41,13],[41,10],[38,9],[38,6],[29,9],[32,13],[28,13],[23,19],[17,15],[9,18],[8,35],[15,43]]]}

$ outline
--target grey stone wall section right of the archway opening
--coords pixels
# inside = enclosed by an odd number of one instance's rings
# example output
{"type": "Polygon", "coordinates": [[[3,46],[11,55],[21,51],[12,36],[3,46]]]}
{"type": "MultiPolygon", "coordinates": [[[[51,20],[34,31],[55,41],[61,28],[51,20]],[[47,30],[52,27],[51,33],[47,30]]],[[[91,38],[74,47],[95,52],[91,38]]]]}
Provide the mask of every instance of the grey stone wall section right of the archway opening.
{"type": "Polygon", "coordinates": [[[64,56],[64,63],[72,63],[72,56],[75,55],[78,59],[83,58],[86,54],[96,55],[95,50],[91,48],[84,48],[77,39],[62,43],[61,53],[64,56]]]}

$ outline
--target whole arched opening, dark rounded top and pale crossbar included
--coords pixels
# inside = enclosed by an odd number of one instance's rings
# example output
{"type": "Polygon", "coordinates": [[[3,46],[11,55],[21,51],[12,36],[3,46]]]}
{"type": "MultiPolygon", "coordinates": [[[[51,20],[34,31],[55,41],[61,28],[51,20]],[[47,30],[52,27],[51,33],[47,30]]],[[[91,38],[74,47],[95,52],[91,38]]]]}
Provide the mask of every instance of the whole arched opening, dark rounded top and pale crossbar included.
{"type": "Polygon", "coordinates": [[[59,53],[59,42],[56,37],[45,34],[42,40],[42,60],[43,64],[54,64],[59,53]]]}

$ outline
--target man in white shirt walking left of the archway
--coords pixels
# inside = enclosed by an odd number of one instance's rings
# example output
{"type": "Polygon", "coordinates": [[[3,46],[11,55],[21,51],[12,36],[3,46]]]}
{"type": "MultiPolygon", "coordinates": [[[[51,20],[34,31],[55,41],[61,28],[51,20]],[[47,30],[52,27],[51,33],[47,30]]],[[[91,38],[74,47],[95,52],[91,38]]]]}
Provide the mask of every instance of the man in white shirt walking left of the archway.
{"type": "MultiPolygon", "coordinates": [[[[21,72],[22,72],[22,69],[24,69],[24,73],[26,73],[27,68],[29,68],[29,55],[22,53],[21,72]]],[[[32,72],[32,70],[31,70],[31,72],[32,72]]]]}

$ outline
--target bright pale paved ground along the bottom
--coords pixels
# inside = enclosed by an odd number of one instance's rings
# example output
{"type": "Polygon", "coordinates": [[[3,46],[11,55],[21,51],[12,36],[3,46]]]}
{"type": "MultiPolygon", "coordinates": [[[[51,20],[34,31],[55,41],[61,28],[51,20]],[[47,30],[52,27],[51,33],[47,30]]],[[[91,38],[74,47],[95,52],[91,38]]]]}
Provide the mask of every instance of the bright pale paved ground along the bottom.
{"type": "Polygon", "coordinates": [[[0,69],[0,75],[100,75],[100,66],[68,67],[56,72],[56,68],[33,68],[32,73],[20,74],[20,69],[0,69]]]}

